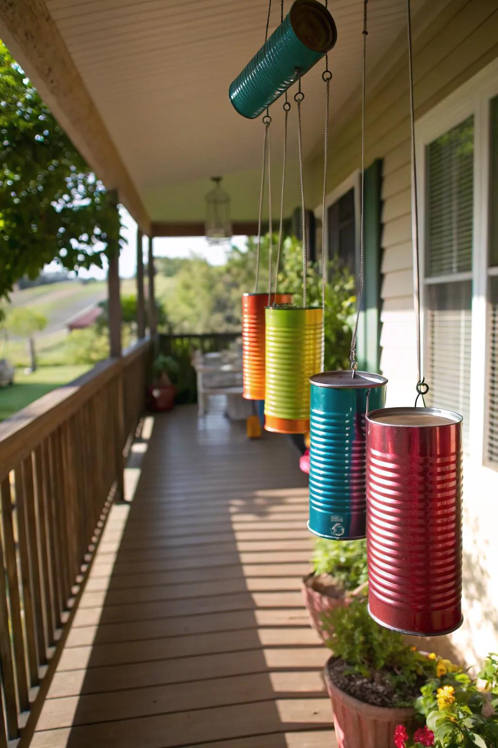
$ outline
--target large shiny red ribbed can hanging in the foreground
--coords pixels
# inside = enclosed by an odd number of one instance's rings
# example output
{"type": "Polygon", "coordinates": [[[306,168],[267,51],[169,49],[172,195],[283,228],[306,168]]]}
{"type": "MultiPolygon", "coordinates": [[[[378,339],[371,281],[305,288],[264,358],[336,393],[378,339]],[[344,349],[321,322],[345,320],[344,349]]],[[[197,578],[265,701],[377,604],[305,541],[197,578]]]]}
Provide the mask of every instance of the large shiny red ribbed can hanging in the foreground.
{"type": "Polygon", "coordinates": [[[405,634],[462,622],[461,423],[438,408],[367,415],[369,611],[405,634]]]}

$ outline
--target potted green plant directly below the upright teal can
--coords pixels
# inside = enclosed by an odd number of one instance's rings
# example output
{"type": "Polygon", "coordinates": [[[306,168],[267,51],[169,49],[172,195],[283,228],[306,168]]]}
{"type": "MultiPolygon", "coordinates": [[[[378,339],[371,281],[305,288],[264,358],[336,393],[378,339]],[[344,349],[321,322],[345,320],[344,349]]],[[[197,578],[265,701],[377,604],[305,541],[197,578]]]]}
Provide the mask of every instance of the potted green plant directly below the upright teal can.
{"type": "Polygon", "coordinates": [[[325,639],[323,614],[345,605],[367,586],[366,541],[317,538],[312,565],[311,574],[302,579],[302,595],[311,626],[325,639]]]}

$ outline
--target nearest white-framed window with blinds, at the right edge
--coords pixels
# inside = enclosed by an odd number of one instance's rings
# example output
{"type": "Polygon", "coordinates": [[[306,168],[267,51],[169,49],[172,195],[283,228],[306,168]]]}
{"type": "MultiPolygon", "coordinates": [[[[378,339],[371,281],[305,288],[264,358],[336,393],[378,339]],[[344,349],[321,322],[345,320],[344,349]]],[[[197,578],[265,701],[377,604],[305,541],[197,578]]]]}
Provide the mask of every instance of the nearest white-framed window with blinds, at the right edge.
{"type": "Polygon", "coordinates": [[[464,416],[498,485],[498,61],[416,128],[427,401],[464,416]]]}

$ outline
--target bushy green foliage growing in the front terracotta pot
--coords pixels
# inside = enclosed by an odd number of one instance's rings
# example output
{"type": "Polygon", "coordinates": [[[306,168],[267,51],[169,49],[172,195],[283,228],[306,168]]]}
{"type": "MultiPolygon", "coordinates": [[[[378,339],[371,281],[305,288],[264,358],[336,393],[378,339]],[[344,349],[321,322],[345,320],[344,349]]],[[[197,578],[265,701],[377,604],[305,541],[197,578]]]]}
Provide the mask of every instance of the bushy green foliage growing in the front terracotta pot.
{"type": "Polygon", "coordinates": [[[435,664],[403,643],[402,635],[379,626],[361,598],[323,616],[327,646],[346,663],[349,673],[376,679],[379,673],[393,687],[397,706],[408,706],[405,693],[423,674],[435,672],[435,664]]]}

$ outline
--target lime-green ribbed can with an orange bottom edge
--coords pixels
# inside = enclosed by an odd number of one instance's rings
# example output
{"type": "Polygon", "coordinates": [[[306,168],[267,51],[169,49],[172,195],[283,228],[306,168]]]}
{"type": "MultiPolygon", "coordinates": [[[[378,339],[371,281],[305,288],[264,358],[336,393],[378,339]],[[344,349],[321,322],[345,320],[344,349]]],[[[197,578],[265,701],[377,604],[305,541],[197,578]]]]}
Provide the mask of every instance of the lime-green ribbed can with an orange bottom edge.
{"type": "Polygon", "coordinates": [[[264,428],[305,434],[310,382],[323,369],[323,309],[267,307],[264,428]]]}

